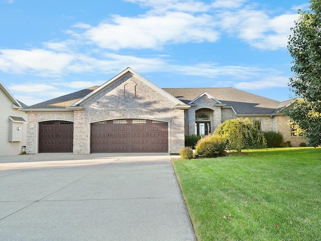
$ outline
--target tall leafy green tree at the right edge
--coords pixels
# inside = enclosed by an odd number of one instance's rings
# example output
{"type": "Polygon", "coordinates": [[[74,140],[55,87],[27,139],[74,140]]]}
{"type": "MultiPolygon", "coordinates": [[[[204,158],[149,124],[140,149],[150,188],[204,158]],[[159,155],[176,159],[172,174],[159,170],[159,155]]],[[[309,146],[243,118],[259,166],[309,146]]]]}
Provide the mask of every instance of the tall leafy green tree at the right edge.
{"type": "Polygon", "coordinates": [[[316,147],[321,145],[321,1],[310,4],[310,11],[298,11],[287,45],[295,73],[289,87],[298,99],[286,113],[316,147]]]}

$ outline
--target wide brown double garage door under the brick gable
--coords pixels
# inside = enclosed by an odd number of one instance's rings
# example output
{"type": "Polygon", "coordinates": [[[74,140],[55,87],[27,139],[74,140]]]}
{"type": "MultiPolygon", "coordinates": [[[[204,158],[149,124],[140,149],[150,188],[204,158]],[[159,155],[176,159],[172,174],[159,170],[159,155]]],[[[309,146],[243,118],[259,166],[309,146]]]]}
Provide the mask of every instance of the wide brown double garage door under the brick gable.
{"type": "Polygon", "coordinates": [[[168,152],[168,124],[115,119],[91,124],[91,152],[168,152]]]}

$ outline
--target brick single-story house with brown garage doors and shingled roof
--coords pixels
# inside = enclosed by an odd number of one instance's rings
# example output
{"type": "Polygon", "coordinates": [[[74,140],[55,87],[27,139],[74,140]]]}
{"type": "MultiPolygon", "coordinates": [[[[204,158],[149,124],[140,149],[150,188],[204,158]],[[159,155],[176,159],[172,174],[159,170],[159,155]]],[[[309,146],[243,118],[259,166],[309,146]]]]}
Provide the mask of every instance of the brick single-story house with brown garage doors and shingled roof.
{"type": "MultiPolygon", "coordinates": [[[[93,86],[27,108],[27,153],[179,153],[184,136],[206,135],[226,119],[252,119],[293,143],[279,102],[234,88],[162,89],[130,68],[93,86]]],[[[299,140],[299,141],[298,141],[299,140]]]]}

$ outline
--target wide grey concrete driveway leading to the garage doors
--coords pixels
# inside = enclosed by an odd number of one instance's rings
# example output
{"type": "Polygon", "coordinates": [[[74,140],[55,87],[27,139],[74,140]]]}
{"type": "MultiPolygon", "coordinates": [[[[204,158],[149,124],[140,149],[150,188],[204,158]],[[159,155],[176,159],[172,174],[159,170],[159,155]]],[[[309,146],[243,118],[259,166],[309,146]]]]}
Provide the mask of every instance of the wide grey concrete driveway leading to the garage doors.
{"type": "Polygon", "coordinates": [[[0,240],[196,240],[169,154],[0,157],[0,240]]]}

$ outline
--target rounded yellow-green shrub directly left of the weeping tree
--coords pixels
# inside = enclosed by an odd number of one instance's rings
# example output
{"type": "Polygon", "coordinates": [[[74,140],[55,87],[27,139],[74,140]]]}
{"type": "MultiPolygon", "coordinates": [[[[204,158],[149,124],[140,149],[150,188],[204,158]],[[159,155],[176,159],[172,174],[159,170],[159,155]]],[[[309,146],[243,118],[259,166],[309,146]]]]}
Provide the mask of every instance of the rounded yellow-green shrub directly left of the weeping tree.
{"type": "Polygon", "coordinates": [[[226,149],[226,138],[209,134],[198,141],[195,149],[196,155],[203,155],[203,157],[221,156],[226,149]]]}

